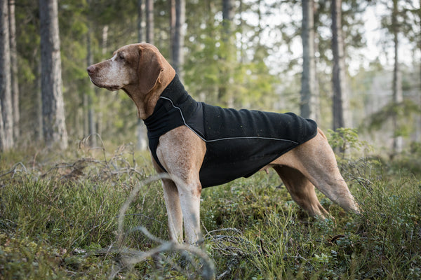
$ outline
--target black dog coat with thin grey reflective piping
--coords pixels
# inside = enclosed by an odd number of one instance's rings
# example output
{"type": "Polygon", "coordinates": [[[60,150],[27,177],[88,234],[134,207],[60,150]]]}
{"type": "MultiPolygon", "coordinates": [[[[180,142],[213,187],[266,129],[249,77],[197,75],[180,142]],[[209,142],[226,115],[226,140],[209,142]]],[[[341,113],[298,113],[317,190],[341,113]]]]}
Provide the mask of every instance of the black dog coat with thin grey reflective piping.
{"type": "Polygon", "coordinates": [[[202,188],[248,177],[317,134],[313,120],[294,113],[222,109],[196,102],[176,75],[145,120],[156,163],[159,137],[186,125],[206,142],[199,177],[202,188]]]}

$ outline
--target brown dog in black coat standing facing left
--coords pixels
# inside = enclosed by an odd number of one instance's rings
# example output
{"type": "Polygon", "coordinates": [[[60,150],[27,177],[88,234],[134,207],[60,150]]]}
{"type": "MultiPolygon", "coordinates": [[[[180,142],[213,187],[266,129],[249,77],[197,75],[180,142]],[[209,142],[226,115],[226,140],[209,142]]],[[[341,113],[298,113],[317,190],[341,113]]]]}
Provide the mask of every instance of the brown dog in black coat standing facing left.
{"type": "Polygon", "coordinates": [[[184,240],[183,218],[185,241],[200,241],[202,188],[269,167],[310,216],[330,216],[315,187],[345,211],[359,212],[332,148],[312,120],[293,113],[236,111],[196,102],[173,67],[148,43],[123,46],[87,71],[96,86],[128,94],[147,126],[156,172],[178,178],[162,179],[173,241],[184,240]]]}

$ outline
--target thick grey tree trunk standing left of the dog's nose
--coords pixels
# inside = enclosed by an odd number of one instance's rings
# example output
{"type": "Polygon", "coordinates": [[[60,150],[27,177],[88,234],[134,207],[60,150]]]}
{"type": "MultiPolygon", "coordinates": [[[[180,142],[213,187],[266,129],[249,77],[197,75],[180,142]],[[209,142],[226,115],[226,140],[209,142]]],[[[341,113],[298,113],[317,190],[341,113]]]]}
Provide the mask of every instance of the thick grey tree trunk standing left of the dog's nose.
{"type": "Polygon", "coordinates": [[[41,33],[41,95],[44,141],[67,148],[65,104],[62,94],[57,0],[39,0],[41,33]]]}

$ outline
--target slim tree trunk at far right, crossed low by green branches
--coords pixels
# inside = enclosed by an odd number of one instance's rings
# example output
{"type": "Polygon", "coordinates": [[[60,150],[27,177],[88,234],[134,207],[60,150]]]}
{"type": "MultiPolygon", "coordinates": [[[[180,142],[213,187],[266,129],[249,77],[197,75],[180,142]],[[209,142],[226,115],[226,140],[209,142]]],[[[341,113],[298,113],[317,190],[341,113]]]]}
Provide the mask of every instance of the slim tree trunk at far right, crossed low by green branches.
{"type": "MultiPolygon", "coordinates": [[[[392,29],[393,29],[393,42],[394,42],[394,68],[393,68],[393,85],[392,85],[392,98],[394,104],[398,105],[403,101],[402,94],[402,81],[401,73],[399,72],[399,23],[397,21],[398,17],[398,0],[393,0],[393,10],[392,10],[392,29]]],[[[399,134],[399,125],[398,125],[398,114],[394,113],[392,116],[393,123],[393,152],[400,153],[402,151],[402,137],[397,136],[399,134]]]]}

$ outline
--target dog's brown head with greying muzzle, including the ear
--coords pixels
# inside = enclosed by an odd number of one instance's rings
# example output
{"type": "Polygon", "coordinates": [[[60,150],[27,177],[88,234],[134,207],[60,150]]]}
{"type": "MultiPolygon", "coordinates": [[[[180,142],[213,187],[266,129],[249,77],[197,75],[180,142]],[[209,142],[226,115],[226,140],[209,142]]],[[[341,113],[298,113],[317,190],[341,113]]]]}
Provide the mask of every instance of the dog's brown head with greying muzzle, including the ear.
{"type": "Polygon", "coordinates": [[[112,58],[88,66],[89,78],[94,85],[107,90],[138,88],[147,94],[159,81],[165,59],[148,43],[125,45],[113,53],[112,58]]]}

